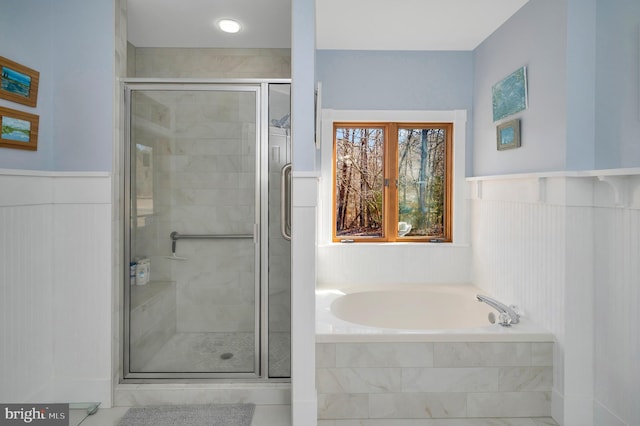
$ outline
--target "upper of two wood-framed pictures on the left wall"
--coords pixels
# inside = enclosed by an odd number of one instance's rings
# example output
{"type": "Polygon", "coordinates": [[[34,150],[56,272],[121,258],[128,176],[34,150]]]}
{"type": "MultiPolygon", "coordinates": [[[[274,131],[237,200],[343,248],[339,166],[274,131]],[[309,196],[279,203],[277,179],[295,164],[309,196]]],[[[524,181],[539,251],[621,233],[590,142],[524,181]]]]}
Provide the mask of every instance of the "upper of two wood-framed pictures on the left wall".
{"type": "Polygon", "coordinates": [[[35,107],[40,73],[0,56],[0,98],[35,107]]]}

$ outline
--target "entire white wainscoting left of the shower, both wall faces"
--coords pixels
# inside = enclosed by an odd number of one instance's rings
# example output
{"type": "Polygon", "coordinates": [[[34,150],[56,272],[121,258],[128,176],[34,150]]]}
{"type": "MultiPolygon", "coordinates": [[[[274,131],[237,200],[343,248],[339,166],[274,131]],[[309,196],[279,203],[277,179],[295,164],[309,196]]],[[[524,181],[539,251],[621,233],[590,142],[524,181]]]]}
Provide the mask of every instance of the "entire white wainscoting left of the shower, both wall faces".
{"type": "Polygon", "coordinates": [[[0,170],[0,400],[111,405],[111,175],[0,170]]]}

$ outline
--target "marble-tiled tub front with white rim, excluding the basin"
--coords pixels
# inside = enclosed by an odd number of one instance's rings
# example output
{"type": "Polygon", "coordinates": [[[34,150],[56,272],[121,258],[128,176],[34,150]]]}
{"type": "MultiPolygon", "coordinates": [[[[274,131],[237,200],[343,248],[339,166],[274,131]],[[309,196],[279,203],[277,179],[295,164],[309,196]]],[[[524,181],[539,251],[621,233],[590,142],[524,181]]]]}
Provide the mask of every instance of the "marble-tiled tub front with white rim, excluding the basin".
{"type": "MultiPolygon", "coordinates": [[[[331,303],[343,294],[317,292],[319,425],[351,426],[357,420],[353,425],[424,426],[440,423],[409,419],[479,418],[533,425],[506,419],[550,417],[554,338],[528,318],[510,328],[368,327],[332,314],[331,303]]],[[[466,424],[474,423],[459,423],[466,424]]]]}

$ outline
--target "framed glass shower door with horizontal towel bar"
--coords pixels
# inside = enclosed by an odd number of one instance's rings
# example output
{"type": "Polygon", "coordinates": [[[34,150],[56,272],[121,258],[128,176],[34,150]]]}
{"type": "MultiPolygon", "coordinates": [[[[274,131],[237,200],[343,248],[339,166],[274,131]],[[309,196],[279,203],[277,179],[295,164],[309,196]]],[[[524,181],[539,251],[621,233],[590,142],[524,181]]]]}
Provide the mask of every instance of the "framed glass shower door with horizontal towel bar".
{"type": "Polygon", "coordinates": [[[127,378],[260,375],[259,89],[129,87],[127,378]]]}

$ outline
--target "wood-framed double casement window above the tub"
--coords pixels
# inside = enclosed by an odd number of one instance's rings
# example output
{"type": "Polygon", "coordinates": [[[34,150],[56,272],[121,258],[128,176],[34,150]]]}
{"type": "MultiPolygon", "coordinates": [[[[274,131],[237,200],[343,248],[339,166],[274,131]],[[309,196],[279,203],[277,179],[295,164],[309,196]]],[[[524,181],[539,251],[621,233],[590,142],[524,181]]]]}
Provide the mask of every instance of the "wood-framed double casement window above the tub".
{"type": "Polygon", "coordinates": [[[333,126],[334,241],[451,241],[452,123],[333,126]]]}

